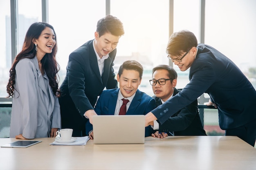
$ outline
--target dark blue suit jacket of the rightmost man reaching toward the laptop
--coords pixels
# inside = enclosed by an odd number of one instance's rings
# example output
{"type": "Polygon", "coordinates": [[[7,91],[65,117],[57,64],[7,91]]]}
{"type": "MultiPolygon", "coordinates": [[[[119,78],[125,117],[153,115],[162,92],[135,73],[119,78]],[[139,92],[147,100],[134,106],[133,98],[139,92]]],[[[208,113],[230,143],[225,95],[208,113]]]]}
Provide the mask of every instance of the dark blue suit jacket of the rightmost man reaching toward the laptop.
{"type": "Polygon", "coordinates": [[[198,44],[189,71],[189,84],[152,113],[162,124],[181,108],[208,93],[218,106],[223,130],[237,128],[256,119],[256,91],[240,69],[211,46],[198,44]]]}

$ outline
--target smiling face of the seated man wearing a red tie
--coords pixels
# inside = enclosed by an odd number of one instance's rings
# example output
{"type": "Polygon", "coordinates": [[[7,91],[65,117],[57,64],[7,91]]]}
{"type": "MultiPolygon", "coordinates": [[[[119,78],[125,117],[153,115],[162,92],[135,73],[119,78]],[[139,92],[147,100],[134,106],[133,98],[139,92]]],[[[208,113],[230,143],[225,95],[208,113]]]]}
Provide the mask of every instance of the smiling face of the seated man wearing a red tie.
{"type": "Polygon", "coordinates": [[[121,76],[117,74],[117,82],[119,82],[122,95],[127,98],[136,93],[141,83],[141,79],[139,78],[138,71],[124,69],[121,76]]]}

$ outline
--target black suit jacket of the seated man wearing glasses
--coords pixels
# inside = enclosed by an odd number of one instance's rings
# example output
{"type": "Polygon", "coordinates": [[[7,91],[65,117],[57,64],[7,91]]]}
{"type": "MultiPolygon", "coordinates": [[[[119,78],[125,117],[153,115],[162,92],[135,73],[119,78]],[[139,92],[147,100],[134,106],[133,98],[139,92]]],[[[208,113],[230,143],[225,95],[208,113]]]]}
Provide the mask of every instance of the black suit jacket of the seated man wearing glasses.
{"type": "MultiPolygon", "coordinates": [[[[179,92],[180,90],[174,88],[173,96],[179,92]]],[[[161,99],[155,96],[153,98],[156,100],[156,106],[162,104],[161,99]]],[[[197,100],[177,111],[177,113],[169,117],[163,124],[159,123],[159,132],[174,132],[175,136],[206,135],[198,113],[197,100]]]]}

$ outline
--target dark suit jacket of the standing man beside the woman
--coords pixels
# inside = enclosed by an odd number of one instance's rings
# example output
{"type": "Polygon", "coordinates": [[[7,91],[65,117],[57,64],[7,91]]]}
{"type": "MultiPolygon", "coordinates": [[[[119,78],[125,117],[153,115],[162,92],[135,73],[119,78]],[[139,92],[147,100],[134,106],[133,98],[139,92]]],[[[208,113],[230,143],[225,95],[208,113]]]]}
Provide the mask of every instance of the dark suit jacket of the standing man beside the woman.
{"type": "Polygon", "coordinates": [[[83,130],[87,121],[83,115],[87,110],[94,109],[97,97],[103,89],[117,88],[113,69],[116,53],[117,50],[113,50],[104,61],[102,76],[99,73],[93,40],[70,54],[67,74],[60,87],[62,128],[83,130]]]}

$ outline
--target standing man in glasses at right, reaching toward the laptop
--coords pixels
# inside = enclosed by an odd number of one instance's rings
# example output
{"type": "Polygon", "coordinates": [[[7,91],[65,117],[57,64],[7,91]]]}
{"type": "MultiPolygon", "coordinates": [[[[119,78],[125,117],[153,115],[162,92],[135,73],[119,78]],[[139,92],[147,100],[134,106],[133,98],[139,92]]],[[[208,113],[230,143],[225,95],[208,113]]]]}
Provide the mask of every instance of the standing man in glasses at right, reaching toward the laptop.
{"type": "Polygon", "coordinates": [[[146,115],[146,125],[158,119],[163,124],[178,110],[203,93],[208,105],[218,108],[225,135],[238,136],[254,146],[256,140],[256,91],[240,69],[225,55],[206,44],[198,44],[190,31],[173,33],[168,57],[181,71],[189,71],[189,84],[180,93],[146,115]]]}

